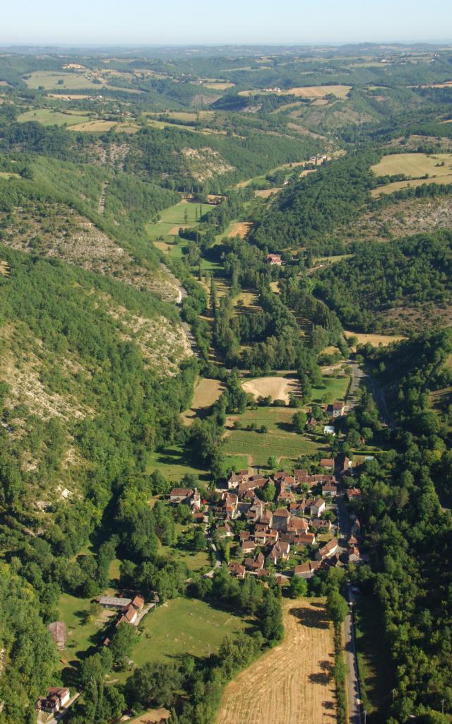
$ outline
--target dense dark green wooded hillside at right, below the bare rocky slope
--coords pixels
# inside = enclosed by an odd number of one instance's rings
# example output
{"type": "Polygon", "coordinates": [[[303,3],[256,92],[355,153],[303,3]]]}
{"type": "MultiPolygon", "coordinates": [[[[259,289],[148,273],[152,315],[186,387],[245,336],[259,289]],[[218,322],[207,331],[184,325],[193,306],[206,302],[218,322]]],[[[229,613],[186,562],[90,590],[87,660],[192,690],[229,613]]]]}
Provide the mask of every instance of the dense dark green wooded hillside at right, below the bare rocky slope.
{"type": "Polygon", "coordinates": [[[319,273],[315,292],[344,326],[357,331],[406,332],[438,324],[451,303],[451,243],[451,232],[437,232],[356,245],[352,258],[319,273]],[[391,317],[391,310],[404,307],[416,309],[417,323],[405,326],[404,319],[391,317]]]}

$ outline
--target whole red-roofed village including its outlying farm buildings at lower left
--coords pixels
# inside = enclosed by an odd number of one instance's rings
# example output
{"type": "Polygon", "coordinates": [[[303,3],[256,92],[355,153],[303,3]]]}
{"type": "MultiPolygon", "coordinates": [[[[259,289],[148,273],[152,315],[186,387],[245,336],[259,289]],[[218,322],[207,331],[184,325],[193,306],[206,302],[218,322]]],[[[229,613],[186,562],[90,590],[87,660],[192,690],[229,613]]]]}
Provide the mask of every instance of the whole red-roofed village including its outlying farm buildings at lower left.
{"type": "MultiPolygon", "coordinates": [[[[335,435],[335,425],[345,414],[344,402],[325,405],[328,424],[322,424],[323,432],[335,435]]],[[[308,416],[307,428],[317,425],[312,414],[308,416]]],[[[339,453],[290,471],[241,469],[230,471],[215,489],[174,487],[160,498],[174,513],[179,506],[187,506],[189,526],[202,530],[214,562],[203,578],[213,578],[221,565],[227,565],[229,575],[241,581],[256,576],[265,583],[274,576],[284,588],[294,576],[310,581],[328,568],[365,560],[355,505],[361,491],[354,481],[363,463],[339,453]]],[[[151,598],[145,601],[141,592],[124,590],[96,597],[95,604],[104,612],[101,647],[110,646],[119,626],[138,627],[160,603],[156,594],[151,598]]],[[[59,651],[64,651],[66,623],[55,621],[48,631],[59,651]]],[[[53,724],[64,717],[79,696],[71,698],[71,693],[67,687],[49,688],[36,704],[38,722],[53,724]]]]}

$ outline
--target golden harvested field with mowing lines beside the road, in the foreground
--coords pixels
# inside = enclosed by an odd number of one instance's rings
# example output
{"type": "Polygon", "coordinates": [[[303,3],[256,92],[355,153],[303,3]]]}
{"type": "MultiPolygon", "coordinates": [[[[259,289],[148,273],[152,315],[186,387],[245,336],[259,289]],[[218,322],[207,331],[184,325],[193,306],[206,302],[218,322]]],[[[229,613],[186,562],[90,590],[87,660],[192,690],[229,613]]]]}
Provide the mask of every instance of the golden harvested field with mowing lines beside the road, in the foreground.
{"type": "Polygon", "coordinates": [[[216,724],[336,722],[333,628],[325,602],[285,599],[283,621],[283,643],[226,686],[216,724]]]}

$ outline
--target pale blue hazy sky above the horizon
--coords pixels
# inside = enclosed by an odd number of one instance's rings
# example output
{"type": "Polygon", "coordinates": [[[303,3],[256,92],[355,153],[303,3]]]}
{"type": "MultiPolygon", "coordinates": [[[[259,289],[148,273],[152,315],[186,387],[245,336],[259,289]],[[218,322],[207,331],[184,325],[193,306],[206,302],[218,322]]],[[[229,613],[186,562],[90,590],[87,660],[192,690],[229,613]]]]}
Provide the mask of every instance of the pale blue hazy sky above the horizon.
{"type": "Polygon", "coordinates": [[[0,43],[451,41],[451,0],[4,0],[0,43]]]}

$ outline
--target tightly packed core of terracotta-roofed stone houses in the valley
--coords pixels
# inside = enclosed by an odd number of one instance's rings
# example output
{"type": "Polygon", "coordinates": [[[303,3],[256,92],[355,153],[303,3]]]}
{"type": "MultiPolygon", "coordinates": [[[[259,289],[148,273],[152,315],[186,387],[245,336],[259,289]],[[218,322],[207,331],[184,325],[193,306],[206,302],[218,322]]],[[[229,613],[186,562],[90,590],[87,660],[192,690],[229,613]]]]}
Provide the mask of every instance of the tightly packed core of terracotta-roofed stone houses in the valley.
{"type": "MultiPolygon", "coordinates": [[[[344,413],[339,403],[334,403],[332,410],[332,414],[344,413]]],[[[215,521],[216,539],[234,541],[239,552],[235,557],[239,560],[229,563],[231,576],[268,576],[270,566],[288,561],[291,552],[300,555],[302,547],[307,547],[312,560],[291,565],[294,575],[312,578],[322,566],[338,565],[340,560],[360,560],[359,521],[354,521],[353,534],[344,550],[338,544],[336,525],[330,515],[325,515],[328,504],[338,495],[338,479],[351,475],[351,461],[345,455],[338,455],[336,460],[323,458],[319,468],[321,472],[314,474],[295,469],[293,473],[280,471],[271,477],[239,470],[229,475],[227,489],[210,505],[196,489],[189,488],[171,490],[170,502],[189,505],[195,521],[207,523],[210,513],[215,521]],[[266,502],[262,492],[271,485],[276,494],[271,502],[266,502]],[[246,529],[239,526],[238,530],[234,521],[246,523],[246,529]]],[[[360,494],[358,488],[346,489],[349,500],[360,494]]],[[[305,557],[302,555],[302,560],[305,557]]]]}

